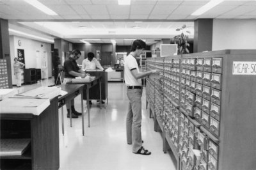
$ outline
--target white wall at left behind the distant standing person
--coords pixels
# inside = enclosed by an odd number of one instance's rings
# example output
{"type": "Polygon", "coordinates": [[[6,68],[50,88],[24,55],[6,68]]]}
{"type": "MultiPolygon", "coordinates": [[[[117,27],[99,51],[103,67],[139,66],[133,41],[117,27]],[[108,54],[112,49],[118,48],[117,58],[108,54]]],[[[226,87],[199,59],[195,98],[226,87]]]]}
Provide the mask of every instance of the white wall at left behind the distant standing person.
{"type": "MultiPolygon", "coordinates": [[[[17,49],[24,49],[25,65],[26,68],[40,68],[38,62],[41,62],[44,58],[45,52],[47,55],[47,77],[52,77],[52,60],[51,60],[51,43],[38,42],[36,40],[31,40],[28,38],[23,38],[19,36],[10,36],[10,55],[11,55],[11,65],[12,65],[12,82],[15,84],[15,77],[13,75],[13,59],[17,58],[17,49]],[[18,40],[20,40],[21,45],[18,45],[18,40]],[[36,51],[39,51],[36,54],[36,51]],[[39,61],[36,60],[36,55],[40,57],[39,61]]],[[[42,68],[42,67],[41,67],[42,68]]]]}

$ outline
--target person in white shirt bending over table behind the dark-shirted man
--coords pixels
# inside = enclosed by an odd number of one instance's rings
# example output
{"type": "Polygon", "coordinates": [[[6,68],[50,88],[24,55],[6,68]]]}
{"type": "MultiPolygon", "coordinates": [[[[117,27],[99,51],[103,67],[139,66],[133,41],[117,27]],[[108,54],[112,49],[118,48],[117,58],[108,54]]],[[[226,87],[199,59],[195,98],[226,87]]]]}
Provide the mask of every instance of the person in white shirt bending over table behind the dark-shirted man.
{"type": "MultiPolygon", "coordinates": [[[[81,69],[83,71],[86,71],[86,70],[96,70],[96,68],[99,68],[102,71],[104,70],[104,68],[102,68],[102,66],[100,65],[99,61],[94,58],[93,52],[88,52],[87,58],[83,60],[81,69]]],[[[97,102],[100,102],[100,100],[97,100],[97,102]]],[[[105,104],[103,100],[101,100],[101,103],[105,104]]],[[[92,100],[89,100],[89,104],[92,105],[92,100]]]]}

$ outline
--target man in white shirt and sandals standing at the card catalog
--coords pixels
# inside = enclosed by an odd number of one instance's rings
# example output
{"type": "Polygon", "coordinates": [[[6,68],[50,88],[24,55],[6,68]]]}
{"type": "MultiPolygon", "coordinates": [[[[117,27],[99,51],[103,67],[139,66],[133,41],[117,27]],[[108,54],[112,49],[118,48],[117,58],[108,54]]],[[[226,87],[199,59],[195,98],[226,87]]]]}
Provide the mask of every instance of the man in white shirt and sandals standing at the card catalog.
{"type": "Polygon", "coordinates": [[[141,78],[152,73],[157,73],[157,70],[140,72],[136,57],[140,56],[145,47],[146,43],[142,40],[134,40],[131,52],[124,61],[124,79],[127,86],[127,97],[129,98],[129,107],[126,118],[126,135],[127,144],[133,144],[133,153],[150,155],[151,152],[143,148],[143,141],[141,139],[141,96],[143,89],[141,86],[141,78]]]}

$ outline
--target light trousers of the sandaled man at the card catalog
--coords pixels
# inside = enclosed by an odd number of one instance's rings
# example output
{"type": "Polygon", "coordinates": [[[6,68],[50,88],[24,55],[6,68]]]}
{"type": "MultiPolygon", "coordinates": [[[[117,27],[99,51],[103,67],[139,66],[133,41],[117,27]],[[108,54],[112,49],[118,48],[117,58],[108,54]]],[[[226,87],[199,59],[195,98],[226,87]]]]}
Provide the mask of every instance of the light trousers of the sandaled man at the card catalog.
{"type": "Polygon", "coordinates": [[[127,143],[132,145],[132,152],[136,153],[142,146],[141,140],[141,96],[142,89],[127,89],[129,107],[126,117],[127,143]]]}

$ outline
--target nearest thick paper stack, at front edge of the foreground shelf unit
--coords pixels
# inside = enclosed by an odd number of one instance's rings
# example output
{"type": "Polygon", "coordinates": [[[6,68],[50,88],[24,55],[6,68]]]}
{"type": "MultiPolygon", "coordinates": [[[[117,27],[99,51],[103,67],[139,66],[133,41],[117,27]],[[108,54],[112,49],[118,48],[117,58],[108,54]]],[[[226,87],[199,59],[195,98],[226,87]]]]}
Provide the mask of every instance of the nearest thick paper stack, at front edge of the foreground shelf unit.
{"type": "Polygon", "coordinates": [[[0,102],[0,113],[31,113],[39,115],[49,105],[49,98],[5,98],[0,102]]]}

